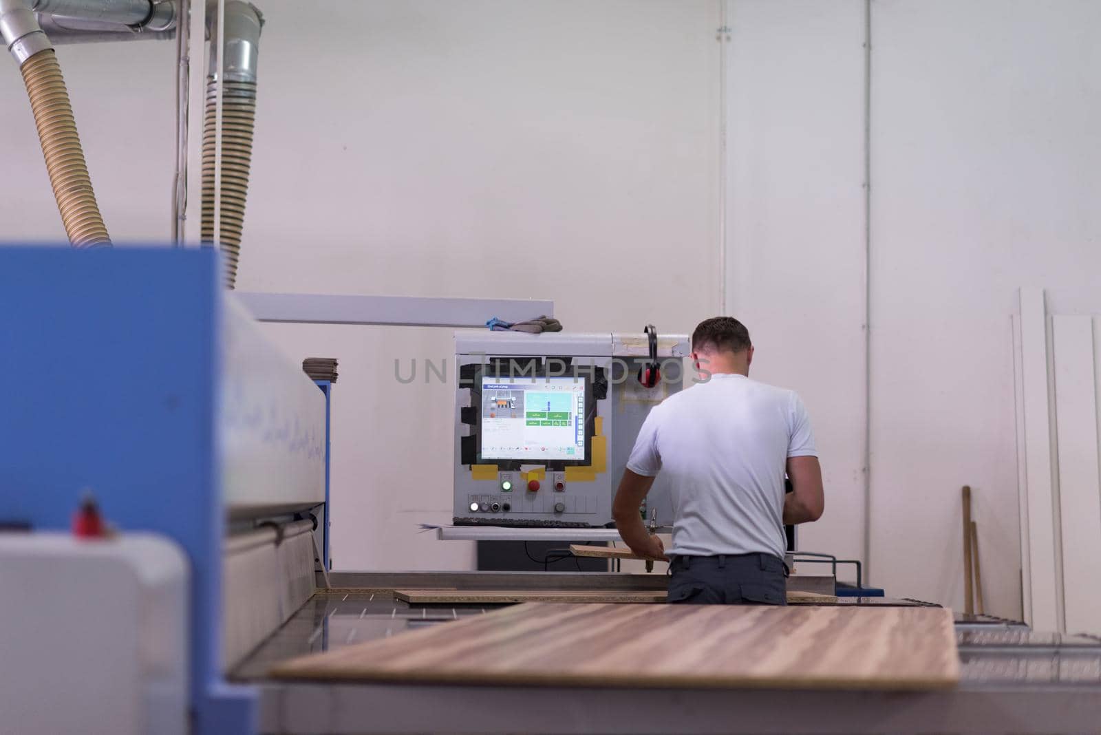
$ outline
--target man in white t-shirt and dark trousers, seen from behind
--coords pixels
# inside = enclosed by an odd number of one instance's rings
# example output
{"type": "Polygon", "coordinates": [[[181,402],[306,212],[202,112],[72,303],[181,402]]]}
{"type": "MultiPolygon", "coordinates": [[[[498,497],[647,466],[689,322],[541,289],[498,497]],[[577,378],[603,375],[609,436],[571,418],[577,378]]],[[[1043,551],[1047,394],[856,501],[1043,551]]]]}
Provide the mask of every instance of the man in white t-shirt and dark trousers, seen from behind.
{"type": "Polygon", "coordinates": [[[817,520],[825,504],[810,419],[793,391],[749,379],[753,345],[737,319],[701,321],[691,347],[702,382],[650,412],[612,516],[632,551],[664,560],[639,513],[664,472],[674,513],[669,602],[783,605],[784,525],[817,520]]]}

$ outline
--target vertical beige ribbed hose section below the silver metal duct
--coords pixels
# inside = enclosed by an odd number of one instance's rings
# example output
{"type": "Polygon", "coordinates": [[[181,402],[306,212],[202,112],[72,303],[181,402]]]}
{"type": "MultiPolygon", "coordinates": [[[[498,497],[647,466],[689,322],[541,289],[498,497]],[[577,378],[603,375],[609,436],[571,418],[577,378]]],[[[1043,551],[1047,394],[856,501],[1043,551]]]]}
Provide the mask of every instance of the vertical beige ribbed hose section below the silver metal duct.
{"type": "MultiPolygon", "coordinates": [[[[207,78],[203,121],[203,242],[215,242],[215,152],[218,80],[207,78]]],[[[233,287],[241,256],[244,201],[252,163],[252,131],[257,118],[257,83],[226,81],[221,101],[221,209],[217,242],[226,261],[226,285],[233,287]]]]}

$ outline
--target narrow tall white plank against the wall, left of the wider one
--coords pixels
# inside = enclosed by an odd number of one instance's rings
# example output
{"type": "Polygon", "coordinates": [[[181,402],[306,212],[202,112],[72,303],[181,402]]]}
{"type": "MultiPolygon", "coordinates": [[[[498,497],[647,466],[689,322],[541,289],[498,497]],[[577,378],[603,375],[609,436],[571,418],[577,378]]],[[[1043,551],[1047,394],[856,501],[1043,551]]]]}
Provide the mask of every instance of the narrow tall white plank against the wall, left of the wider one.
{"type": "MultiPolygon", "coordinates": [[[[1021,362],[1024,398],[1025,492],[1032,619],[1037,630],[1061,632],[1061,574],[1056,562],[1053,435],[1047,371],[1047,308],[1043,288],[1022,288],[1021,362]]],[[[1022,549],[1025,552],[1025,549],[1022,549]]]]}

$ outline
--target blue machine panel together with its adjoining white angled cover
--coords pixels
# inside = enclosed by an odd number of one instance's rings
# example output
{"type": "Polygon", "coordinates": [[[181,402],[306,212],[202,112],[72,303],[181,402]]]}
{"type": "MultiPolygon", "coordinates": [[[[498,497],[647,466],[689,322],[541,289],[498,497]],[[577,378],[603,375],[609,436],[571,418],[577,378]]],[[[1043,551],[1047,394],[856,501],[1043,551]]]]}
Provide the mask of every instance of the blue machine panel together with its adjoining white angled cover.
{"type": "Polygon", "coordinates": [[[174,539],[194,732],[239,735],[258,706],[224,678],[228,519],[324,513],[331,385],[266,345],[220,281],[209,249],[0,248],[0,527],[67,530],[90,489],[121,530],[174,539]]]}

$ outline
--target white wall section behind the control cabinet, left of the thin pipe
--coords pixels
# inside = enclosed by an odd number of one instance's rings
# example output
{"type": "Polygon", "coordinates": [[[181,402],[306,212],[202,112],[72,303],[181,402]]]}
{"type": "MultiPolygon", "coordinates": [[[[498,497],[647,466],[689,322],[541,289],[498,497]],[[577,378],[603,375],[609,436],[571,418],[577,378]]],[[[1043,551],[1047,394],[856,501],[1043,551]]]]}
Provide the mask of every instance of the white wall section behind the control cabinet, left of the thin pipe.
{"type": "MultiPolygon", "coordinates": [[[[266,1],[244,290],[552,298],[573,330],[717,309],[718,4],[266,1]]],[[[469,568],[450,330],[271,325],[336,356],[338,569],[469,568]]]]}

